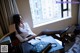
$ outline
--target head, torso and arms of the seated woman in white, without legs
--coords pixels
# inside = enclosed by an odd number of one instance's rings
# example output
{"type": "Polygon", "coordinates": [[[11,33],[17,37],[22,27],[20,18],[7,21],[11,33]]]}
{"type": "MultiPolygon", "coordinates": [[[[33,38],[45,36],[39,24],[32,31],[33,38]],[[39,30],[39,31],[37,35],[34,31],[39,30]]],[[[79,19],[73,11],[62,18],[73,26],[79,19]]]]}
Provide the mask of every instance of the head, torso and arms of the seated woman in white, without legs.
{"type": "Polygon", "coordinates": [[[13,22],[17,31],[16,37],[20,42],[27,41],[36,36],[36,34],[31,31],[28,23],[23,22],[22,17],[19,14],[13,16],[13,22]]]}

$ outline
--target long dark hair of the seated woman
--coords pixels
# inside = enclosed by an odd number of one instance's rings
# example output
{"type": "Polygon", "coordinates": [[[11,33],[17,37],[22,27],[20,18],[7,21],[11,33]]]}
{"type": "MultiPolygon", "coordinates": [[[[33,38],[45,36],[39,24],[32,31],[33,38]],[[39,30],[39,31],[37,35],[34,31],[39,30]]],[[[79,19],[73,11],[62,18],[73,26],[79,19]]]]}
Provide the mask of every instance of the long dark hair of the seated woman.
{"type": "Polygon", "coordinates": [[[19,14],[13,15],[13,23],[15,24],[15,28],[18,34],[21,34],[22,32],[19,29],[19,25],[20,25],[20,15],[19,14]]]}

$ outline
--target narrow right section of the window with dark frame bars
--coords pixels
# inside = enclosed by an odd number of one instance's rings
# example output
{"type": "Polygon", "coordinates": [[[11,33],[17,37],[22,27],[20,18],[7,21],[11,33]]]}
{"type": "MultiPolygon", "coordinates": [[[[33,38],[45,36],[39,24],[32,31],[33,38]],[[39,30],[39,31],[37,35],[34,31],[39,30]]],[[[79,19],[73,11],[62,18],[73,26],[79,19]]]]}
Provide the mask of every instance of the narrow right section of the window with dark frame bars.
{"type": "Polygon", "coordinates": [[[62,17],[71,17],[71,4],[70,3],[71,0],[61,0],[61,2],[63,2],[61,4],[61,15],[62,17]]]}

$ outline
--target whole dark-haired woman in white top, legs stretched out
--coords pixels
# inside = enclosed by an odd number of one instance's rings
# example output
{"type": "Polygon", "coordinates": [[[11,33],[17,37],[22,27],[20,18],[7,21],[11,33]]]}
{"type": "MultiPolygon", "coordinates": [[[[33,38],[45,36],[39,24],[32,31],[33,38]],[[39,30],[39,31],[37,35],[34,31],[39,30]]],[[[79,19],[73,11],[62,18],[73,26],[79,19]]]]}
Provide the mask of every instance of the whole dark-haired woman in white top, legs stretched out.
{"type": "MultiPolygon", "coordinates": [[[[33,33],[28,25],[28,23],[23,23],[22,21],[22,17],[19,14],[16,14],[13,16],[13,21],[15,23],[15,28],[17,31],[17,35],[16,37],[21,41],[27,41],[31,38],[36,37],[36,34],[33,33]]],[[[53,31],[53,30],[46,30],[46,31],[42,31],[41,33],[39,33],[37,36],[40,35],[53,35],[54,38],[62,40],[61,37],[57,37],[55,34],[60,34],[60,36],[62,36],[62,34],[64,34],[66,30],[57,30],[57,31],[53,31]]]]}

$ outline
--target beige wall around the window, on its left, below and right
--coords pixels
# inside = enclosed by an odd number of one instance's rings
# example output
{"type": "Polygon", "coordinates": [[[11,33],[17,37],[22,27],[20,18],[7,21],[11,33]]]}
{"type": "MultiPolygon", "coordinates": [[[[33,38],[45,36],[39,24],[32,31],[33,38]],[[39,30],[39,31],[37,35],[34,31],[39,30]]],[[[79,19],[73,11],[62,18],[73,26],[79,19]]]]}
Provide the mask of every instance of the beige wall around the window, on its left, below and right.
{"type": "Polygon", "coordinates": [[[30,14],[29,0],[16,0],[17,5],[20,11],[21,16],[24,19],[24,22],[28,22],[33,32],[36,34],[40,33],[42,30],[51,29],[51,30],[59,30],[65,29],[69,25],[73,25],[77,23],[77,4],[72,4],[72,18],[62,20],[59,22],[51,23],[48,25],[44,25],[41,27],[33,28],[32,18],[30,14]]]}

